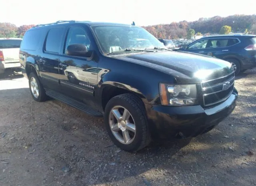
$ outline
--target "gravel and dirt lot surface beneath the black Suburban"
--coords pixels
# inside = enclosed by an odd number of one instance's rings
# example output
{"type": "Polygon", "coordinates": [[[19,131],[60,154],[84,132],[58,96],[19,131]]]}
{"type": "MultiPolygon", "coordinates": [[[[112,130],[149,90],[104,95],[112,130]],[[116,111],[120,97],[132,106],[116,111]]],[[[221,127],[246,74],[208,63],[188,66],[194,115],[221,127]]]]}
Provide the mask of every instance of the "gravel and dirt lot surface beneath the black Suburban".
{"type": "Polygon", "coordinates": [[[103,120],[35,102],[20,74],[0,80],[0,186],[256,185],[256,70],[237,77],[234,112],[192,140],[113,146],[103,120]]]}

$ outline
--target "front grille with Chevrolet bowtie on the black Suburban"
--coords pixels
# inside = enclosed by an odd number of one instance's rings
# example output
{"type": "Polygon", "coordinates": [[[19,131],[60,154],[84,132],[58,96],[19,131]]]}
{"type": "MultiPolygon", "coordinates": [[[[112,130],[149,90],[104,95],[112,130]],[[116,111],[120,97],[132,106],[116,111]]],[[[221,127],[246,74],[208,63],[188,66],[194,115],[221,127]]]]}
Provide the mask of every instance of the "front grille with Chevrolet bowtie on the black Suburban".
{"type": "Polygon", "coordinates": [[[233,92],[235,74],[201,83],[204,106],[212,106],[225,101],[233,92]]]}

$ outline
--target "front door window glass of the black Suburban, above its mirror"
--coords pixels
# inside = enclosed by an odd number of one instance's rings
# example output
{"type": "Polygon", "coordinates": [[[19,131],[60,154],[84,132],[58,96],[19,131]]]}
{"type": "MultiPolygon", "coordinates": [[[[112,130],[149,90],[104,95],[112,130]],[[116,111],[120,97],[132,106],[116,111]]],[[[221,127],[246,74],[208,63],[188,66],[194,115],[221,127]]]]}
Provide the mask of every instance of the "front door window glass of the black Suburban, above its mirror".
{"type": "Polygon", "coordinates": [[[83,44],[86,46],[87,50],[92,50],[91,42],[88,38],[85,30],[79,26],[72,26],[68,31],[68,36],[65,44],[65,54],[66,49],[71,44],[83,44]]]}

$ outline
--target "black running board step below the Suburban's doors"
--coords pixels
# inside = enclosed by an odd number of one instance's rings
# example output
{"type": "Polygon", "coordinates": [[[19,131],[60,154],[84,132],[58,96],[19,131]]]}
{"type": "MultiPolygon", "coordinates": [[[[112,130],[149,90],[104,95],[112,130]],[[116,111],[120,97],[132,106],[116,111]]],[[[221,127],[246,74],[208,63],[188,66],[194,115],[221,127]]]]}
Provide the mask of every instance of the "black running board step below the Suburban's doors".
{"type": "Polygon", "coordinates": [[[85,112],[86,114],[89,114],[89,115],[92,115],[92,116],[95,116],[95,117],[102,117],[102,113],[98,112],[97,110],[94,110],[92,108],[90,108],[88,105],[82,103],[82,102],[79,102],[77,100],[74,100],[68,96],[65,96],[63,94],[60,94],[59,92],[56,92],[54,90],[46,90],[46,95],[51,97],[51,98],[54,98],[55,100],[58,100],[58,101],[61,101],[61,102],[64,102],[74,108],[77,108],[79,110],[82,110],[83,112],[85,112]]]}

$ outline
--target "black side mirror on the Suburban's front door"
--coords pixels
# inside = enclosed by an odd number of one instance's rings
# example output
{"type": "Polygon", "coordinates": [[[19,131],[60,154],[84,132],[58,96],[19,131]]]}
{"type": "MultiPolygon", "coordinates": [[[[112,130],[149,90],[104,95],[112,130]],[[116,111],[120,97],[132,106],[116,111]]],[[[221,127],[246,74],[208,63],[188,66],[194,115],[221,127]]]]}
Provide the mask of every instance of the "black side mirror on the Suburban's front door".
{"type": "Polygon", "coordinates": [[[84,44],[71,44],[67,47],[66,54],[69,56],[90,57],[92,56],[92,51],[88,51],[84,44]]]}

